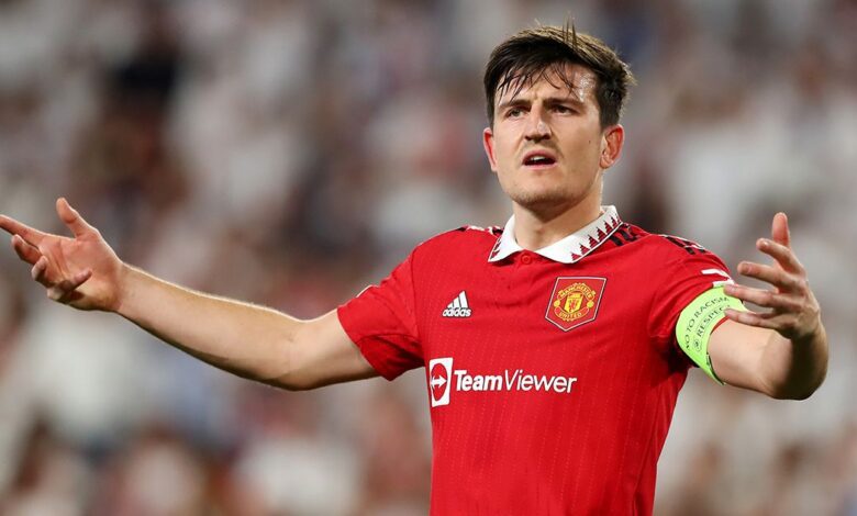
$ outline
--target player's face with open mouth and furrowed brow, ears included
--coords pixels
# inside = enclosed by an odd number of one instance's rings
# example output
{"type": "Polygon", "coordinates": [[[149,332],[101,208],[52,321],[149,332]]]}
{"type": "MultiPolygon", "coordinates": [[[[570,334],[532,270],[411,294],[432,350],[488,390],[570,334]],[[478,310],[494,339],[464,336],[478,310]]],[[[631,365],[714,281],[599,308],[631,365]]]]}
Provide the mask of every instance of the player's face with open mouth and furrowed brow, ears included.
{"type": "Polygon", "coordinates": [[[546,216],[576,206],[597,214],[601,177],[619,159],[624,130],[601,127],[592,70],[567,65],[565,74],[568,80],[548,72],[499,92],[485,149],[517,206],[546,216]]]}

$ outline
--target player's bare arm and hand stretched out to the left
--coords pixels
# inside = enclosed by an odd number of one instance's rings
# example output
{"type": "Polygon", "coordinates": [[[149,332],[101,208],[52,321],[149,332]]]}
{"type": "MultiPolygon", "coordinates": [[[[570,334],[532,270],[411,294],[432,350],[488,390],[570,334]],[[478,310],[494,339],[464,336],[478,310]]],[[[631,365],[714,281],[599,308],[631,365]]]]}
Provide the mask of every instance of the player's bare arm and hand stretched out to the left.
{"type": "Polygon", "coordinates": [[[218,368],[300,390],[376,375],[335,312],[299,321],[280,312],[194,292],[119,259],[65,199],[57,214],[74,237],[0,215],[12,247],[48,298],[80,310],[115,312],[218,368]]]}

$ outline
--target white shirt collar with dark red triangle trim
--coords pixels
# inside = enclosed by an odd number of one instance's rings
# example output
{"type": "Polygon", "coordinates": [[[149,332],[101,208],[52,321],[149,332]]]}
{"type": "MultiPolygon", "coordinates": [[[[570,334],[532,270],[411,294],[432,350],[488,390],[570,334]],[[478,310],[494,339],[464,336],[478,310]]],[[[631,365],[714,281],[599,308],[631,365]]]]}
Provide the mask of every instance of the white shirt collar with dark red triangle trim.
{"type": "MultiPolygon", "coordinates": [[[[619,228],[621,223],[622,220],[619,218],[615,206],[601,206],[601,215],[598,218],[561,240],[534,253],[560,263],[574,263],[592,253],[606,240],[619,228]]],[[[500,261],[522,250],[524,248],[515,242],[515,216],[512,215],[509,222],[505,223],[503,234],[500,235],[497,244],[494,244],[494,248],[491,249],[488,261],[500,261]]]]}

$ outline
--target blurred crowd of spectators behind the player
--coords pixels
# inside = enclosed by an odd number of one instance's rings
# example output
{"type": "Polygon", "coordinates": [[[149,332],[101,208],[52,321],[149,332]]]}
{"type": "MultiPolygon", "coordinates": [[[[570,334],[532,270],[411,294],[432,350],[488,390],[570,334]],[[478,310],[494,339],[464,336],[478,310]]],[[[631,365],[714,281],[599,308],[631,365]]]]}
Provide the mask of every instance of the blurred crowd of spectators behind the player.
{"type": "MultiPolygon", "coordinates": [[[[691,372],[657,514],[857,514],[853,0],[0,0],[0,211],[63,232],[66,195],[132,263],[318,316],[505,222],[482,67],[569,13],[639,81],[605,201],[733,268],[788,212],[831,337],[804,402],[691,372]]],[[[422,515],[430,430],[422,370],[276,391],[0,253],[2,514],[422,515]]]]}

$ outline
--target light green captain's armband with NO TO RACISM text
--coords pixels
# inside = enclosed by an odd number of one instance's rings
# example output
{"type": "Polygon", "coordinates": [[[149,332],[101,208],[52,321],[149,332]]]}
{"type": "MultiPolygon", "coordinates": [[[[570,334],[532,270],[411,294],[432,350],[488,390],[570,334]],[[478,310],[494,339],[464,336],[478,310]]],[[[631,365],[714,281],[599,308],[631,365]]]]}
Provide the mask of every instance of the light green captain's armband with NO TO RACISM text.
{"type": "Polygon", "coordinates": [[[723,385],[723,381],[714,373],[709,357],[709,338],[725,315],[726,309],[745,311],[744,304],[736,298],[726,295],[723,287],[715,287],[701,293],[681,311],[676,324],[676,339],[679,347],[690,357],[705,374],[723,385]]]}

